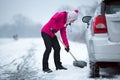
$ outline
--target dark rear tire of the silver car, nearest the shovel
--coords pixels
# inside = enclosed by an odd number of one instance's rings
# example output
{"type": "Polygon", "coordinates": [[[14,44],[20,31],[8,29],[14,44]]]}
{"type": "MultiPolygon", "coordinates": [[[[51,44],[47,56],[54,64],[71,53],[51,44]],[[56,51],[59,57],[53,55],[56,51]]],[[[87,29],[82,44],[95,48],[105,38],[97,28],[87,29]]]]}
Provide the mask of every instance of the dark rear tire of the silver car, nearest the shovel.
{"type": "Polygon", "coordinates": [[[96,78],[99,77],[99,63],[90,61],[90,77],[96,78]]]}

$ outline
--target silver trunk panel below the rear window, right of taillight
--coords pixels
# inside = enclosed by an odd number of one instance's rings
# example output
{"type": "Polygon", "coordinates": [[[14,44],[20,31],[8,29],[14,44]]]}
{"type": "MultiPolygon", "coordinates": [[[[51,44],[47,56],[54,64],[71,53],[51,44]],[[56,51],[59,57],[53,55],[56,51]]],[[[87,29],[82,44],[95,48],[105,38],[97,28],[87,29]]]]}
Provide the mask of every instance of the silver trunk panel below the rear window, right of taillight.
{"type": "Polygon", "coordinates": [[[120,42],[120,13],[106,15],[109,40],[120,42]]]}

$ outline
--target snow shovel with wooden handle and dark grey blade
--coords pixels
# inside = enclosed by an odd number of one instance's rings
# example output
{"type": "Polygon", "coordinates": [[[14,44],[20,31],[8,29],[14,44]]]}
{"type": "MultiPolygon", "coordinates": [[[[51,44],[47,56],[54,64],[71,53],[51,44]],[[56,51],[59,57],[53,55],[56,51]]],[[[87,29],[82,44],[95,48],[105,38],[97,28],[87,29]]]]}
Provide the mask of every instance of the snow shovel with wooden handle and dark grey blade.
{"type": "MultiPolygon", "coordinates": [[[[58,38],[58,37],[57,37],[58,38]]],[[[61,41],[61,39],[60,38],[58,38],[58,40],[63,44],[63,46],[64,47],[66,47],[65,46],[65,44],[61,41]]],[[[73,61],[73,65],[74,66],[76,66],[76,67],[80,67],[80,68],[84,68],[85,66],[87,66],[87,62],[85,62],[85,61],[78,61],[76,58],[75,58],[75,56],[73,56],[73,54],[69,51],[68,52],[71,56],[72,56],[72,58],[75,60],[75,61],[73,61]]]]}

